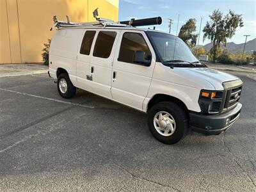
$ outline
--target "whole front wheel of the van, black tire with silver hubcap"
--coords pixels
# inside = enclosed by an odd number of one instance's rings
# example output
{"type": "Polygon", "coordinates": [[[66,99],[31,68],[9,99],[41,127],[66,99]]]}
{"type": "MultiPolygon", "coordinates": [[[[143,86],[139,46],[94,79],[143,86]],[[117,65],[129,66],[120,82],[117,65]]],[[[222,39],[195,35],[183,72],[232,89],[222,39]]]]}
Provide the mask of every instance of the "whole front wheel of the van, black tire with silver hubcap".
{"type": "Polygon", "coordinates": [[[187,113],[174,102],[159,102],[148,111],[148,128],[162,143],[177,143],[186,136],[188,127],[187,113]]]}

